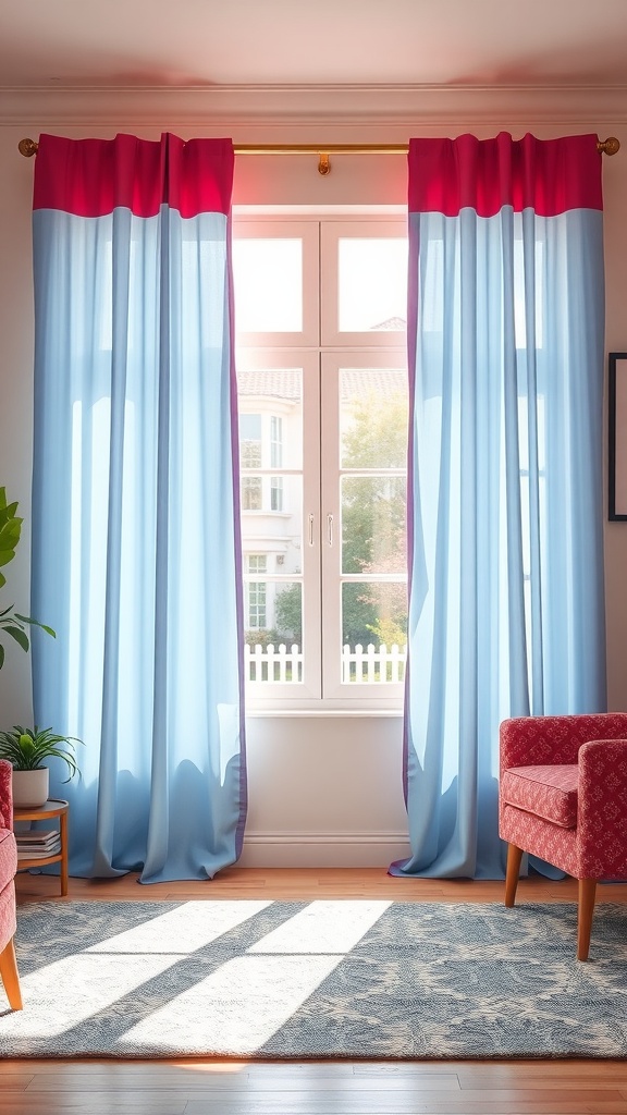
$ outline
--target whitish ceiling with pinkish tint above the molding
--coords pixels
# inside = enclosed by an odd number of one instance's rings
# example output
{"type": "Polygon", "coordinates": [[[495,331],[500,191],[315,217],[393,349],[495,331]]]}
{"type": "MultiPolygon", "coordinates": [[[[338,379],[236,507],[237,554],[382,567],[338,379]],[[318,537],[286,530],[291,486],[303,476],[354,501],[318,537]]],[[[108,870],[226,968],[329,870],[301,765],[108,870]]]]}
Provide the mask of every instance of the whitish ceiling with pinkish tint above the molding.
{"type": "Polygon", "coordinates": [[[0,87],[623,86],[627,0],[0,0],[0,87]]]}

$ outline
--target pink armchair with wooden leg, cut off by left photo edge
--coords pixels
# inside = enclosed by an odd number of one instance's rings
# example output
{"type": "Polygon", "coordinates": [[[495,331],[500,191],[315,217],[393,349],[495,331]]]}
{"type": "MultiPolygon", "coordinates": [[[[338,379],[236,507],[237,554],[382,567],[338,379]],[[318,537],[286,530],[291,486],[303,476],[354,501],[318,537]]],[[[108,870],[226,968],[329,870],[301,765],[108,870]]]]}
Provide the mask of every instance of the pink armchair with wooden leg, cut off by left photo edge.
{"type": "Polygon", "coordinates": [[[20,978],[13,948],[16,932],[16,870],[11,764],[0,759],[0,976],[12,1010],[22,1009],[20,978]]]}

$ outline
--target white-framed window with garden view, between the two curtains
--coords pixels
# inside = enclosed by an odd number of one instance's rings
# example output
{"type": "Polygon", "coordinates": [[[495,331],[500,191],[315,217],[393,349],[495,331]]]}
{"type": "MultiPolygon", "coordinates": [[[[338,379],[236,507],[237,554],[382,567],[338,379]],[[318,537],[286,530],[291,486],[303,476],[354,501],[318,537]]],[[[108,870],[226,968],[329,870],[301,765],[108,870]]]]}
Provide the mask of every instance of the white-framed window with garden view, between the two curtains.
{"type": "Polygon", "coordinates": [[[248,696],[397,705],[406,222],[235,217],[233,272],[248,696]]]}

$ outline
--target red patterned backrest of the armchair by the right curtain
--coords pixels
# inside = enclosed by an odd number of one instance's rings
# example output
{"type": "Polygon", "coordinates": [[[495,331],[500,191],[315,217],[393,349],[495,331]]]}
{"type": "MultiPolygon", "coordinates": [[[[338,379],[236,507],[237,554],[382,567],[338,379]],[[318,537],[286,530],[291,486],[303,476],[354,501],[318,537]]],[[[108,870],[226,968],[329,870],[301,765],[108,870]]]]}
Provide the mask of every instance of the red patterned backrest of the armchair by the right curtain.
{"type": "Polygon", "coordinates": [[[579,748],[594,739],[627,739],[627,712],[521,716],[503,720],[500,769],[577,763],[579,748]]]}

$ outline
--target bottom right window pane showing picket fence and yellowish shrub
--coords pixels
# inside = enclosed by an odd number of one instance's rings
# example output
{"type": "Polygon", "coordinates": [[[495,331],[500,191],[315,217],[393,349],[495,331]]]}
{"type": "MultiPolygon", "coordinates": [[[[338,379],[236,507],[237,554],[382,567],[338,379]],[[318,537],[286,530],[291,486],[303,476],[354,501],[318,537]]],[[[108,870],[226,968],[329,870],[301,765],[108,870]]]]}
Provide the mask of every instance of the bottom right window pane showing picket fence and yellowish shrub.
{"type": "Polygon", "coordinates": [[[403,681],[407,590],[402,582],[343,584],[343,682],[403,681]]]}

